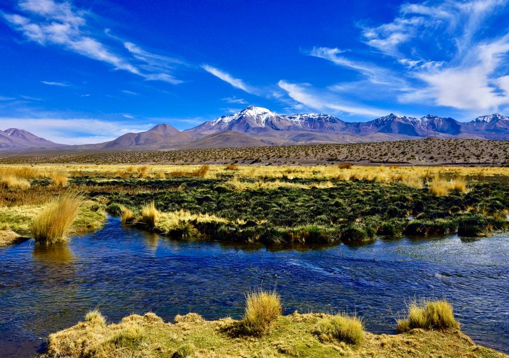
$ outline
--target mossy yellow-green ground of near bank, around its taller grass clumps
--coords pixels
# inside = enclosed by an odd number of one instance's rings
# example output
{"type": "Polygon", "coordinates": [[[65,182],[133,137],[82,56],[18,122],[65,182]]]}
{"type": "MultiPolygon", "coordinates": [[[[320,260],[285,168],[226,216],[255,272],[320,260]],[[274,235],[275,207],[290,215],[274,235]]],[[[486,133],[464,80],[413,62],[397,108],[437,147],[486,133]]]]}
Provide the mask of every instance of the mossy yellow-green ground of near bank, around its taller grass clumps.
{"type": "Polygon", "coordinates": [[[40,358],[68,357],[450,357],[503,358],[507,355],[474,344],[460,329],[428,331],[416,328],[398,335],[365,332],[358,344],[317,333],[326,314],[278,317],[261,337],[237,335],[239,321],[206,321],[196,314],[165,323],[153,313],[130,315],[104,325],[89,318],[50,335],[40,358]]]}

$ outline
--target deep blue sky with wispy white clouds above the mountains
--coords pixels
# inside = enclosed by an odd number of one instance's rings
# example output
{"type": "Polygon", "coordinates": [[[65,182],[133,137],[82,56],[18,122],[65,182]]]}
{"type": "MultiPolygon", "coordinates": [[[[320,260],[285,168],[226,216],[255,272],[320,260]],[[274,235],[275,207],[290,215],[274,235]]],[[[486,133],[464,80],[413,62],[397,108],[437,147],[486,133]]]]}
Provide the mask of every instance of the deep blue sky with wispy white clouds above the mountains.
{"type": "Polygon", "coordinates": [[[509,114],[508,3],[3,0],[0,128],[81,144],[248,104],[509,114]]]}

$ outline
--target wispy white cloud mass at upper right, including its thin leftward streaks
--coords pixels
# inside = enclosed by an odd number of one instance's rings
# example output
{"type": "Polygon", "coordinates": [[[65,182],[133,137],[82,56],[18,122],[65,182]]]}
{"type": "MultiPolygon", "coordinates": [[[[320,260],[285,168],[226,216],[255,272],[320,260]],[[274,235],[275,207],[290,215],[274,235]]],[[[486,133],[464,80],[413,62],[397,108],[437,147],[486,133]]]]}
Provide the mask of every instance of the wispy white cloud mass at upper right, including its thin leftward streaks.
{"type": "Polygon", "coordinates": [[[495,22],[496,31],[487,28],[497,16],[502,20],[507,4],[507,0],[403,4],[392,21],[361,27],[361,42],[372,49],[369,56],[332,47],[314,47],[306,54],[359,73],[364,80],[328,87],[360,95],[359,101],[392,96],[403,104],[498,111],[509,106],[505,65],[509,31],[502,26],[499,35],[501,22],[495,22]]]}

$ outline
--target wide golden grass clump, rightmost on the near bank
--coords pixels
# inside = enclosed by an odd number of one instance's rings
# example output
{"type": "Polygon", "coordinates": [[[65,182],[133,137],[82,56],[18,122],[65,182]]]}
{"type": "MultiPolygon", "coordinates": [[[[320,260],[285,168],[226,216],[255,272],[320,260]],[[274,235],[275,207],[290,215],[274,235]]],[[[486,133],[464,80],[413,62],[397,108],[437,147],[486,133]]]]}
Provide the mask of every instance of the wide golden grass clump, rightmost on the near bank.
{"type": "Polygon", "coordinates": [[[407,304],[407,317],[397,320],[397,331],[407,332],[413,328],[447,329],[457,328],[459,323],[454,318],[453,306],[444,299],[428,300],[425,298],[411,300],[407,304]]]}

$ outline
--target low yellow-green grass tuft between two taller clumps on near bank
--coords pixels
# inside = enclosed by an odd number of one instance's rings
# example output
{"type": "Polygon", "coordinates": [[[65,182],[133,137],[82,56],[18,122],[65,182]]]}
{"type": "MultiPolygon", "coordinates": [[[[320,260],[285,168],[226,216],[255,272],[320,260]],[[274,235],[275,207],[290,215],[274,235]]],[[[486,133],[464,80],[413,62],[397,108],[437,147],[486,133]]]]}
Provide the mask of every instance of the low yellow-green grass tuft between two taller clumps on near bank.
{"type": "Polygon", "coordinates": [[[364,338],[364,324],[356,315],[338,313],[321,319],[317,324],[317,334],[321,339],[332,337],[340,342],[357,344],[364,338]]]}

